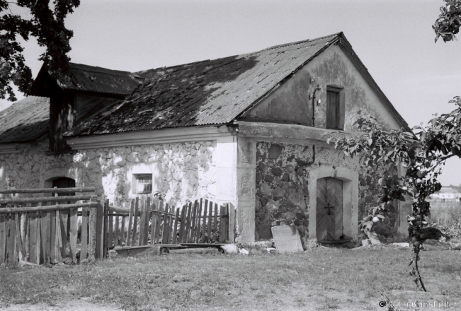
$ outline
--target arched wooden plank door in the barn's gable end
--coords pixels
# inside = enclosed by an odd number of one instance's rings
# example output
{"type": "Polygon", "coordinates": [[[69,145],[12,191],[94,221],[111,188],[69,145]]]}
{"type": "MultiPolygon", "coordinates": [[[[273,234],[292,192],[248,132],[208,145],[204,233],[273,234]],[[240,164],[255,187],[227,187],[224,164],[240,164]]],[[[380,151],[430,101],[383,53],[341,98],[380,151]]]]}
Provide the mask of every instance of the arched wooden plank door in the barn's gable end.
{"type": "Polygon", "coordinates": [[[343,182],[333,177],[317,180],[317,240],[336,241],[343,234],[343,182]]]}

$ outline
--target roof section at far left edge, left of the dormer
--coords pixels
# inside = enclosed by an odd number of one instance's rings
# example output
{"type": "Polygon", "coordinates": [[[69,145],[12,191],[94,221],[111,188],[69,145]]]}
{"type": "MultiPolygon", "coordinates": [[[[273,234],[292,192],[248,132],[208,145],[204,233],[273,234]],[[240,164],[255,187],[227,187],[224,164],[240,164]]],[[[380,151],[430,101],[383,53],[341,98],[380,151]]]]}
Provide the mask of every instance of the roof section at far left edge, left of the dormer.
{"type": "Polygon", "coordinates": [[[0,111],[0,143],[35,141],[49,124],[50,99],[29,96],[0,111]]]}

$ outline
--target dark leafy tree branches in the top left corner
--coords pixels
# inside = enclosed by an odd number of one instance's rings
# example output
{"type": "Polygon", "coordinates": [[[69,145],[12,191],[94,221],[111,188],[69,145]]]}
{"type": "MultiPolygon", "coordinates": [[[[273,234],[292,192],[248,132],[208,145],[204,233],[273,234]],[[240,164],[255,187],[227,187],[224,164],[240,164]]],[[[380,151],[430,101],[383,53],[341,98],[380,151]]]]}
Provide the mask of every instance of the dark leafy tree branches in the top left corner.
{"type": "Polygon", "coordinates": [[[32,71],[25,65],[23,47],[18,42],[35,37],[38,45],[46,47],[40,61],[52,71],[66,71],[67,53],[71,50],[69,39],[72,30],[64,26],[64,18],[79,6],[80,0],[0,0],[0,98],[16,100],[11,83],[22,93],[32,85],[32,71]],[[26,8],[30,18],[13,14],[11,5],[26,8]]]}

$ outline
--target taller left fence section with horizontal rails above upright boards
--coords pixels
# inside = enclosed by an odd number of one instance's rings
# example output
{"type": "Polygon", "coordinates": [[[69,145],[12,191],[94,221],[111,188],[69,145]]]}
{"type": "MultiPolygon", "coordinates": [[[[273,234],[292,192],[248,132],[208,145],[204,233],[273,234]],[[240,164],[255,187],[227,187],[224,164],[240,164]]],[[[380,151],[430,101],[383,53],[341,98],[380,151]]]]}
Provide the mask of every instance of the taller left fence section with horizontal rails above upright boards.
{"type": "Polygon", "coordinates": [[[8,189],[0,199],[0,264],[25,261],[32,264],[77,262],[106,256],[105,208],[96,196],[14,197],[17,194],[94,192],[86,188],[8,189]],[[77,218],[81,216],[81,237],[77,218]]]}

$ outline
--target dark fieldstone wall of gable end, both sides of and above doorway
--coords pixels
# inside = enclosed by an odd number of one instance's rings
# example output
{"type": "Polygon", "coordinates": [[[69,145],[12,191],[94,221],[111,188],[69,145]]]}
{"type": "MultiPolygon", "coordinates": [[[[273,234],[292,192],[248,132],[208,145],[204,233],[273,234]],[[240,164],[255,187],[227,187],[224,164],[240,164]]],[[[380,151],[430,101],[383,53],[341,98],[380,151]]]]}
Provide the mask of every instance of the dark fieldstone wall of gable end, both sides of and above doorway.
{"type": "MultiPolygon", "coordinates": [[[[256,143],[256,240],[271,239],[273,225],[297,225],[302,240],[309,237],[309,171],[321,166],[338,166],[359,172],[358,220],[377,206],[382,174],[397,173],[396,168],[382,172],[364,170],[357,159],[346,157],[334,148],[285,143],[256,143]]],[[[314,194],[315,195],[315,194],[314,194]]],[[[397,205],[394,204],[397,207],[397,205]]],[[[389,204],[384,221],[376,223],[381,237],[397,233],[398,213],[389,204]]],[[[360,232],[361,233],[361,232],[360,232]]]]}

